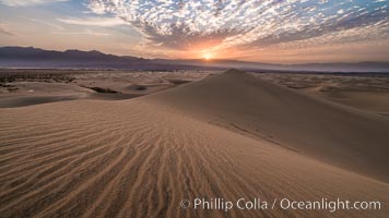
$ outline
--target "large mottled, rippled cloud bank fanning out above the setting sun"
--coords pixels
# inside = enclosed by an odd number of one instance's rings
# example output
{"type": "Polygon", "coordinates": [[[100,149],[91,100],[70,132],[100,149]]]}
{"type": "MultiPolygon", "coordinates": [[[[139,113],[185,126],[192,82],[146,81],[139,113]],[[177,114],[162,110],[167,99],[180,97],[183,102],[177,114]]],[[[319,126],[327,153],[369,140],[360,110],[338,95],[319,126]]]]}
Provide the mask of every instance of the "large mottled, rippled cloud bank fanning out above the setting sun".
{"type": "Polygon", "coordinates": [[[127,22],[149,45],[178,50],[303,45],[325,36],[321,43],[331,44],[331,34],[369,39],[366,28],[389,33],[386,0],[90,0],[87,7],[127,22]]]}

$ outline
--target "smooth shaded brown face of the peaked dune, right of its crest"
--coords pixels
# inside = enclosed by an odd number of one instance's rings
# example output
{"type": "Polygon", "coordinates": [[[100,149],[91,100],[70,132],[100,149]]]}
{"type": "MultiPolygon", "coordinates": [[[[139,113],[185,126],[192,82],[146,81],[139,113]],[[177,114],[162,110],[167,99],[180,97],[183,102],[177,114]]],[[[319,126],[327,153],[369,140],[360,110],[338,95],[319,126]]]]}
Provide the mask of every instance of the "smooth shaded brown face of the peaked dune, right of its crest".
{"type": "Polygon", "coordinates": [[[297,153],[389,180],[387,118],[234,70],[148,98],[297,153]]]}

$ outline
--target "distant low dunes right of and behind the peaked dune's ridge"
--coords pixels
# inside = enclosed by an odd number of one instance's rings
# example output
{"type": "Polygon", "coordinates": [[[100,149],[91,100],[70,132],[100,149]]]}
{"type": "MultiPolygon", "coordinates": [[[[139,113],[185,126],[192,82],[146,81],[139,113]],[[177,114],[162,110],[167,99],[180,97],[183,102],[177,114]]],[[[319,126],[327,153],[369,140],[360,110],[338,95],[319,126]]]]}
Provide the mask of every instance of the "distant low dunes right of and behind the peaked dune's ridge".
{"type": "Polygon", "coordinates": [[[386,74],[254,73],[252,75],[359,110],[389,114],[389,76],[386,74]]]}

